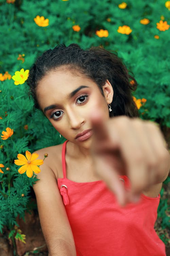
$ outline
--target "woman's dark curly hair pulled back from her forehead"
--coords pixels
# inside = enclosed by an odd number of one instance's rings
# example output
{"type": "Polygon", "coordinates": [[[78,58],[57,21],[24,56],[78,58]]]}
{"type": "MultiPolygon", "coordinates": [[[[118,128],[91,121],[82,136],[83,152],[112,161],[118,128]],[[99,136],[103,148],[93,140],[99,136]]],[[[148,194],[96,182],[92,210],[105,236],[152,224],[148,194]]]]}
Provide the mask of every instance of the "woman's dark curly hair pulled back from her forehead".
{"type": "Polygon", "coordinates": [[[36,97],[38,82],[51,70],[62,68],[62,66],[68,70],[77,70],[92,79],[102,94],[102,86],[108,79],[114,90],[111,103],[113,111],[109,112],[110,116],[138,116],[138,110],[131,95],[131,91],[137,87],[137,82],[129,74],[122,60],[116,53],[106,51],[101,47],[83,50],[78,44],[70,44],[68,47],[65,44],[57,45],[36,59],[27,80],[35,108],[40,109],[36,97]],[[130,84],[131,80],[133,80],[132,85],[130,84]]]}

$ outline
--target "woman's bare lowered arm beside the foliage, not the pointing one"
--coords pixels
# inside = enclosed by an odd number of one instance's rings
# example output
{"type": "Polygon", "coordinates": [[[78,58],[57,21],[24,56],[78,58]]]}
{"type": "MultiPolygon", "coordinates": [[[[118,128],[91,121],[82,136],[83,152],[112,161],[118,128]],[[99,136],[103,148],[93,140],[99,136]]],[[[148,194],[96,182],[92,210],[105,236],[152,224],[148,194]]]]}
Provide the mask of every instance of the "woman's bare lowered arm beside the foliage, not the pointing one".
{"type": "MultiPolygon", "coordinates": [[[[40,154],[39,158],[42,158],[40,154]]],[[[33,188],[49,256],[75,256],[74,239],[56,177],[45,162],[40,168],[39,180],[33,188]]]]}

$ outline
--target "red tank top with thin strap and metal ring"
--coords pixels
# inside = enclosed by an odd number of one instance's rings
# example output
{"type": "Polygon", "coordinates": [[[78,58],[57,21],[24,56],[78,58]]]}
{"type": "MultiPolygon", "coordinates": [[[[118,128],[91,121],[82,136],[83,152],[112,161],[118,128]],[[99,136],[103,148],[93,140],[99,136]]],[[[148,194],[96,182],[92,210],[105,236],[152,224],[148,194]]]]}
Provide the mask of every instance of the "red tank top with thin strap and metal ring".
{"type": "MultiPolygon", "coordinates": [[[[63,144],[63,178],[57,180],[72,229],[77,256],[166,256],[154,224],[160,195],[141,195],[139,203],[120,207],[103,181],[73,182],[66,177],[63,144]]],[[[126,176],[120,176],[129,186],[126,176]]]]}

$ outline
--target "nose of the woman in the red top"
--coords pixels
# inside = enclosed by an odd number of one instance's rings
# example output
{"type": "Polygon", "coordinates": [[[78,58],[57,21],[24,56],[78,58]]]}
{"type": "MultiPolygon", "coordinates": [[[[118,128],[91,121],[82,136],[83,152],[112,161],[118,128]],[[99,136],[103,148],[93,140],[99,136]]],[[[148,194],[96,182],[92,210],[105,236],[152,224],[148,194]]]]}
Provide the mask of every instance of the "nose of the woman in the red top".
{"type": "Polygon", "coordinates": [[[69,118],[69,128],[70,129],[79,129],[84,123],[84,118],[80,112],[69,111],[67,114],[69,118]]]}

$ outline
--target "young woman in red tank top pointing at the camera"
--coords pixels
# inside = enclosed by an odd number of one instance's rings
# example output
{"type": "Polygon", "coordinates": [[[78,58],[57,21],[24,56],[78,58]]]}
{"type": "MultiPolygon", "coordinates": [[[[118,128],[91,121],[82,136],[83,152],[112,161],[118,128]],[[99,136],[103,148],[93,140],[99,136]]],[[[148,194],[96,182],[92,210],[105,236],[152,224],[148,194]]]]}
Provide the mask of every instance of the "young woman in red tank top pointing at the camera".
{"type": "Polygon", "coordinates": [[[67,139],[37,151],[48,153],[34,191],[49,256],[165,255],[154,223],[170,158],[157,126],[131,118],[131,79],[115,54],[76,44],[30,70],[35,106],[67,139]]]}

